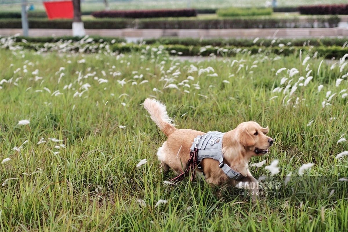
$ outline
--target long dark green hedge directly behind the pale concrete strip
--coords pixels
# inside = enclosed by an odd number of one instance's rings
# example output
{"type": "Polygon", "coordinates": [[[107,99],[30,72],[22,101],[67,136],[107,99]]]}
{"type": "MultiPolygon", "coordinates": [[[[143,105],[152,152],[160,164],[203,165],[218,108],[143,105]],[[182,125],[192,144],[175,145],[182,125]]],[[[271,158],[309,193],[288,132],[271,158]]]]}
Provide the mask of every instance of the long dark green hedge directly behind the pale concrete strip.
{"type": "MultiPolygon", "coordinates": [[[[234,17],[224,19],[90,19],[84,20],[85,29],[243,29],[243,28],[312,28],[336,27],[340,22],[338,16],[310,17],[307,23],[300,23],[299,18],[262,18],[234,17]],[[317,22],[317,23],[316,23],[317,22]]],[[[48,20],[30,18],[29,28],[71,29],[72,21],[68,19],[48,20]]],[[[22,28],[21,19],[1,19],[0,28],[22,28]]]]}

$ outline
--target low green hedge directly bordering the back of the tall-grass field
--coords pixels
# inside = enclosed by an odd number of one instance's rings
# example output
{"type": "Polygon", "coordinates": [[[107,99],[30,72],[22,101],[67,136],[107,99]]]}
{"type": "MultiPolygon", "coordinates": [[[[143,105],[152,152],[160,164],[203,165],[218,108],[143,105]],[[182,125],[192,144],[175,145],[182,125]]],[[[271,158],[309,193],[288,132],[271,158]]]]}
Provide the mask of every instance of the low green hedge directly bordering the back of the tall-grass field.
{"type": "MultiPolygon", "coordinates": [[[[25,38],[24,38],[25,39],[25,38]]],[[[73,38],[66,38],[66,39],[73,39],[73,38]]],[[[77,38],[75,38],[77,39],[77,38]]],[[[86,39],[86,38],[85,38],[86,39]]],[[[37,39],[39,40],[39,39],[37,39]]],[[[34,50],[41,50],[42,51],[57,51],[60,50],[60,44],[66,43],[67,40],[60,41],[58,44],[56,43],[47,43],[47,42],[29,42],[29,41],[22,41],[21,38],[16,39],[17,42],[15,42],[12,46],[22,46],[25,49],[34,49],[34,50]]],[[[104,46],[100,46],[100,43],[104,43],[106,40],[93,40],[89,41],[87,43],[80,43],[78,40],[70,43],[68,46],[64,46],[65,51],[76,51],[76,52],[85,52],[85,53],[98,53],[101,52],[101,50],[104,49],[104,46]]],[[[108,41],[106,41],[107,43],[108,41]]],[[[106,47],[106,46],[105,46],[106,47]]],[[[238,46],[223,46],[223,47],[217,47],[217,46],[185,46],[185,45],[136,45],[133,43],[114,43],[114,44],[108,44],[108,49],[110,49],[113,52],[118,53],[127,53],[130,51],[142,51],[147,52],[151,51],[152,48],[163,48],[163,50],[167,51],[169,54],[172,55],[183,55],[183,56],[209,56],[211,54],[214,54],[216,56],[234,56],[238,53],[251,53],[251,54],[258,54],[258,53],[273,53],[277,55],[290,55],[290,54],[298,54],[300,50],[302,51],[308,51],[309,54],[316,54],[318,57],[324,57],[324,58],[340,58],[343,57],[345,54],[348,53],[348,47],[342,48],[341,46],[306,46],[306,47],[298,47],[298,46],[272,46],[272,47],[264,47],[264,46],[251,46],[251,47],[238,47],[238,46]]]]}

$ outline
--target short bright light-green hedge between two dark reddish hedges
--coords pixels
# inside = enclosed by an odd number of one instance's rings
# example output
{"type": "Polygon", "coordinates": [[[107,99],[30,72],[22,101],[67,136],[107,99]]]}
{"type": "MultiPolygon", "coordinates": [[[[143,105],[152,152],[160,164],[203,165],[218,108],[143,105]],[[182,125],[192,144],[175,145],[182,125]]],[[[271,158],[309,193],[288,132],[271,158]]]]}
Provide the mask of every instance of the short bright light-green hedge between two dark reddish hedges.
{"type": "Polygon", "coordinates": [[[227,9],[218,9],[216,11],[216,14],[220,17],[271,15],[272,13],[273,13],[272,8],[231,7],[227,9]]]}

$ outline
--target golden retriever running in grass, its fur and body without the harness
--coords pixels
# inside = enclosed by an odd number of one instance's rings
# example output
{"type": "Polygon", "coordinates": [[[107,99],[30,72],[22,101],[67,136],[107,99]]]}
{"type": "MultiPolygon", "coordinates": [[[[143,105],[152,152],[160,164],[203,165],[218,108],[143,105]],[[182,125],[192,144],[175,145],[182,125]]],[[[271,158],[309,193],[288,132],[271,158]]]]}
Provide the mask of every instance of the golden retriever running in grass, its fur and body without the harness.
{"type": "MultiPolygon", "coordinates": [[[[175,173],[182,173],[187,169],[193,139],[206,133],[175,128],[172,124],[173,120],[167,115],[166,106],[156,99],[145,99],[144,108],[167,136],[167,141],[157,151],[162,171],[167,173],[169,168],[172,168],[175,173]]],[[[268,152],[269,147],[273,144],[273,139],[266,136],[267,133],[268,127],[263,128],[258,123],[250,121],[240,123],[235,129],[224,133],[222,137],[223,161],[231,169],[243,175],[238,181],[249,183],[253,201],[256,201],[259,194],[258,184],[248,169],[248,162],[251,157],[268,152]]],[[[200,164],[207,183],[215,186],[236,186],[238,183],[222,171],[219,167],[219,161],[204,158],[200,164]]],[[[201,173],[197,169],[196,172],[201,173]]]]}

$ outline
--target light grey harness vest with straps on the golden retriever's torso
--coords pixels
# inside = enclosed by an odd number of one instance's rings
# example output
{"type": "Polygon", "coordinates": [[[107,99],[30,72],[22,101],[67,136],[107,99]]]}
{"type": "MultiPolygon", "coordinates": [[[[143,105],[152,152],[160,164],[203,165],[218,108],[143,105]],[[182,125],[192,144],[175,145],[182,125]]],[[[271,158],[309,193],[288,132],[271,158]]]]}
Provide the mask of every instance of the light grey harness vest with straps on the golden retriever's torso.
{"type": "Polygon", "coordinates": [[[191,151],[197,146],[198,149],[198,169],[203,169],[200,165],[200,161],[204,158],[212,158],[219,161],[219,168],[231,179],[239,180],[244,176],[237,171],[231,169],[223,162],[222,154],[222,137],[224,133],[218,131],[209,131],[205,135],[199,135],[193,139],[191,151]]]}

